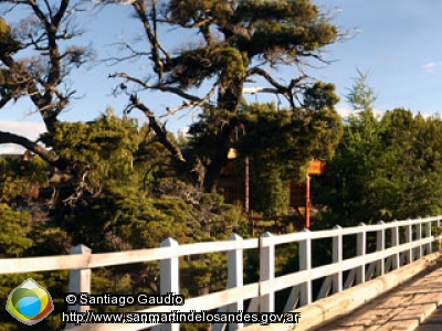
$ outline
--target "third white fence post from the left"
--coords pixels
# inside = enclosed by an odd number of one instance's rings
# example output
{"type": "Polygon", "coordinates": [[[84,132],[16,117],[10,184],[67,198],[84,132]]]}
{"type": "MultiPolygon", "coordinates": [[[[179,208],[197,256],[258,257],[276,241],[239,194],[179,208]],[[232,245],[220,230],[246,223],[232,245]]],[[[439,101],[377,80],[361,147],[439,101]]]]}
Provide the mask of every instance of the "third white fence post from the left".
{"type": "MultiPolygon", "coordinates": [[[[238,234],[232,234],[229,241],[242,243],[242,237],[238,234]]],[[[242,287],[243,286],[243,249],[236,248],[228,252],[228,288],[242,287]]],[[[244,309],[243,300],[236,301],[229,305],[229,312],[239,312],[244,309]]],[[[238,330],[243,328],[243,323],[231,323],[229,330],[238,330]]]]}

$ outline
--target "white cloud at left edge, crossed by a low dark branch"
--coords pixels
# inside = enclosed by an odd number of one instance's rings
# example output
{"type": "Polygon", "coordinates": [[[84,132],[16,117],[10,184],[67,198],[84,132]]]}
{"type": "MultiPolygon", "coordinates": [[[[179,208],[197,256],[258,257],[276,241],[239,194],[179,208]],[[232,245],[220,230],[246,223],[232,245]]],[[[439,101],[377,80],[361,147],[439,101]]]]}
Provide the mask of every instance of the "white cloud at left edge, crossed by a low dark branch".
{"type": "MultiPolygon", "coordinates": [[[[35,140],[39,136],[46,131],[43,124],[33,121],[0,121],[0,131],[11,132],[14,135],[27,137],[30,140],[35,140]]],[[[0,153],[22,153],[24,149],[18,145],[4,143],[0,146],[0,153]]]]}

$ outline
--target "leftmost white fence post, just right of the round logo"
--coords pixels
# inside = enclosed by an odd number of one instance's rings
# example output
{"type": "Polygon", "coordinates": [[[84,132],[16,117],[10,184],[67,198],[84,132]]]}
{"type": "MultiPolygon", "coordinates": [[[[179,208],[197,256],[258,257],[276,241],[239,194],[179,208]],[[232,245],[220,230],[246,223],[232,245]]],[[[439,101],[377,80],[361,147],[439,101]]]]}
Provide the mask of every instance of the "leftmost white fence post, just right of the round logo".
{"type": "MultiPolygon", "coordinates": [[[[83,254],[90,256],[92,253],[91,248],[85,245],[76,245],[70,252],[70,254],[83,254]]],[[[87,257],[88,259],[88,257],[87,257]]],[[[69,291],[74,293],[87,292],[91,293],[91,269],[71,270],[69,279],[69,291]]],[[[75,310],[78,312],[86,312],[90,306],[70,306],[69,310],[75,310]]],[[[75,323],[67,323],[66,329],[74,328],[75,323]]]]}

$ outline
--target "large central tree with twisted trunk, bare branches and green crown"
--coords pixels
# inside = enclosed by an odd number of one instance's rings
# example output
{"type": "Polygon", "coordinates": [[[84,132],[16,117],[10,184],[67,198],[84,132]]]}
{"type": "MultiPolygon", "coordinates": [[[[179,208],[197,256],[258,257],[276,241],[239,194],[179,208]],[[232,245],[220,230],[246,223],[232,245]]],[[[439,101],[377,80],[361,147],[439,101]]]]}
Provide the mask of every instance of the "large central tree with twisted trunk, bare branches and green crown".
{"type": "MultiPolygon", "coordinates": [[[[322,93],[320,85],[316,85],[312,94],[313,81],[305,66],[312,60],[324,61],[322,49],[336,42],[339,33],[312,1],[104,0],[102,3],[131,6],[146,41],[145,49],[126,43],[123,50],[128,53],[110,58],[114,63],[138,58],[151,67],[143,76],[127,71],[112,75],[122,79],[119,87],[129,95],[128,110],[136,108],[147,116],[175,166],[191,173],[206,191],[215,190],[227,163],[228,151],[241,126],[240,106],[248,83],[262,84],[253,87],[253,93],[285,99],[296,120],[325,122],[314,114],[320,110],[317,106],[324,104],[320,98],[328,92],[322,93]],[[191,41],[178,51],[167,50],[162,33],[170,28],[191,41]],[[277,75],[283,68],[290,73],[287,82],[277,75]],[[146,90],[172,94],[182,104],[152,108],[143,95],[146,90]],[[189,157],[170,139],[159,115],[194,107],[204,109],[202,120],[212,124],[213,148],[203,156],[193,150],[193,157],[189,157]]],[[[200,127],[207,128],[204,122],[200,127]]],[[[208,134],[193,132],[197,138],[208,134]]]]}

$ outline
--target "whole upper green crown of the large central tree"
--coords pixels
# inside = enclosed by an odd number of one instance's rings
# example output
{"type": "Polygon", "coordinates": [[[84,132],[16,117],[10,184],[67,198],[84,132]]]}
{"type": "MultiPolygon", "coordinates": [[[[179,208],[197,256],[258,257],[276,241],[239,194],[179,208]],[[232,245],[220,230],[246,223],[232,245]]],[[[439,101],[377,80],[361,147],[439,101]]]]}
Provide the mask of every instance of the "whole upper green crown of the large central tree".
{"type": "Polygon", "coordinates": [[[208,44],[183,50],[168,63],[169,84],[188,88],[218,76],[222,86],[243,79],[254,58],[272,64],[308,56],[337,39],[337,29],[319,18],[318,8],[307,0],[170,1],[166,12],[172,24],[200,26],[208,44]],[[210,29],[224,35],[215,41],[210,29]]]}

